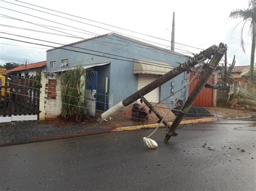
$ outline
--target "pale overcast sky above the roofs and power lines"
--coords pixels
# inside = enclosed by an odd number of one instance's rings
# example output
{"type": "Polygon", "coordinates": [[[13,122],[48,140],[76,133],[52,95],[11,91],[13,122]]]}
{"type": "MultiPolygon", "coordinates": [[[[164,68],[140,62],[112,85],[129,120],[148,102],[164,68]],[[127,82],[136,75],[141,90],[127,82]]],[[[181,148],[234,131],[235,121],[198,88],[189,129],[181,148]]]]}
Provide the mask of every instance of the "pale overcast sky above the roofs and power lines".
{"type": "MultiPolygon", "coordinates": [[[[227,44],[228,46],[228,63],[232,62],[233,56],[235,55],[237,61],[236,66],[250,65],[251,36],[247,32],[249,30],[249,23],[245,25],[244,40],[246,54],[244,54],[240,46],[241,24],[235,27],[241,19],[228,18],[230,11],[237,8],[248,8],[248,0],[6,0],[0,1],[0,6],[0,37],[30,41],[32,43],[44,44],[55,47],[59,46],[59,44],[69,44],[75,41],[79,41],[82,38],[91,38],[93,36],[97,36],[98,34],[105,34],[114,31],[122,33],[124,35],[132,36],[133,38],[140,38],[140,40],[145,39],[152,41],[154,43],[157,43],[154,45],[163,48],[170,48],[169,46],[172,32],[172,13],[175,12],[176,43],[197,47],[191,48],[189,46],[175,44],[175,48],[179,48],[176,49],[177,52],[184,54],[188,54],[188,52],[199,53],[201,50],[198,48],[205,49],[212,46],[213,44],[219,45],[219,43],[222,42],[227,44]],[[54,11],[45,10],[32,5],[24,4],[22,2],[69,13],[71,15],[109,24],[112,26],[122,27],[124,29],[129,29],[131,31],[136,31],[165,40],[147,37],[127,30],[117,29],[116,27],[95,23],[90,20],[85,20],[57,13],[54,11]],[[42,10],[46,13],[31,10],[23,6],[42,10]],[[24,13],[29,15],[25,15],[24,13]],[[71,18],[73,20],[60,18],[50,15],[48,13],[61,15],[71,18]],[[44,18],[46,20],[38,17],[44,18]],[[25,20],[26,22],[22,20],[25,20]],[[57,22],[59,24],[53,22],[57,22]],[[47,26],[42,27],[38,24],[47,26]],[[18,29],[17,27],[22,27],[26,30],[18,29]],[[105,29],[100,29],[99,27],[103,27],[105,29]],[[57,33],[58,35],[49,33],[57,33]],[[11,34],[47,40],[51,43],[17,37],[11,34]]],[[[147,41],[147,43],[149,42],[147,41]]],[[[19,41],[0,38],[0,65],[3,65],[5,62],[12,61],[25,63],[25,61],[27,60],[28,63],[35,63],[46,60],[46,50],[50,48],[51,47],[27,44],[19,41]]]]}

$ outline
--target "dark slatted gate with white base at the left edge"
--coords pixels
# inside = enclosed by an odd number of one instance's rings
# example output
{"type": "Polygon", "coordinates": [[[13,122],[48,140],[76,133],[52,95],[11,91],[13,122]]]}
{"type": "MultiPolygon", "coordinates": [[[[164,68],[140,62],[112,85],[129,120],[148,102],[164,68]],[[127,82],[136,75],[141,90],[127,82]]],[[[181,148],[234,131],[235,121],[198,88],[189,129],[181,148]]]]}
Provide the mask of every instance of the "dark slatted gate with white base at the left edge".
{"type": "Polygon", "coordinates": [[[0,123],[37,120],[41,84],[35,77],[5,76],[0,84],[0,123]]]}

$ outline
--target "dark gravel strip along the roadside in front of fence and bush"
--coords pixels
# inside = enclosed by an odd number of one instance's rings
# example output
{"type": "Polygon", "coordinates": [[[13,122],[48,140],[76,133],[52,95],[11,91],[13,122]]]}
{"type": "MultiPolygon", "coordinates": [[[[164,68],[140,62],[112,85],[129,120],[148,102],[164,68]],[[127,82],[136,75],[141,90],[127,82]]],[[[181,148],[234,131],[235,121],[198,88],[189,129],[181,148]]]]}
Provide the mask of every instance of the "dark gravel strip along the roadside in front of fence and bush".
{"type": "Polygon", "coordinates": [[[89,131],[111,130],[108,126],[100,124],[85,123],[69,124],[49,124],[38,121],[20,121],[0,125],[0,146],[8,143],[29,142],[35,139],[51,138],[61,135],[85,133],[89,131]]]}

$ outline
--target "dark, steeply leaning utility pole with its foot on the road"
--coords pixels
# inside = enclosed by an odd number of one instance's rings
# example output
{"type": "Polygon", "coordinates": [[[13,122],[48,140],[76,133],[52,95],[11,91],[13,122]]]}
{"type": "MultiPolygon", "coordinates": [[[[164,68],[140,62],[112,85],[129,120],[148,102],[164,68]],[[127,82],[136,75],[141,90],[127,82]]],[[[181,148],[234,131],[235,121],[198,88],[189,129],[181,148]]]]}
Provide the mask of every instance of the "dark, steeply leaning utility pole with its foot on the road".
{"type": "Polygon", "coordinates": [[[183,117],[187,114],[188,110],[190,110],[192,104],[196,100],[197,96],[200,94],[201,90],[204,88],[206,82],[208,81],[209,77],[211,76],[213,70],[217,67],[219,61],[227,51],[226,45],[223,43],[219,44],[219,48],[213,55],[213,58],[211,59],[209,65],[206,65],[203,75],[200,77],[200,80],[198,81],[196,87],[194,87],[191,95],[187,98],[187,101],[185,102],[183,108],[180,110],[178,116],[174,120],[174,122],[171,125],[171,128],[167,131],[166,136],[164,140],[167,142],[172,136],[177,136],[177,133],[175,132],[178,125],[180,124],[183,117]]]}

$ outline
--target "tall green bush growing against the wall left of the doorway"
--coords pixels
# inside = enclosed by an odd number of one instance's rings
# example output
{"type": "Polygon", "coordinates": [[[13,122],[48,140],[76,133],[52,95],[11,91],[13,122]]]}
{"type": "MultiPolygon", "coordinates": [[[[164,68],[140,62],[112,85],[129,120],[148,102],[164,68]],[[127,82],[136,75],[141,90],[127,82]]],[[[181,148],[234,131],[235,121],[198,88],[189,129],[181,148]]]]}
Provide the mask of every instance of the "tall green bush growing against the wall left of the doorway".
{"type": "Polygon", "coordinates": [[[62,87],[61,116],[64,119],[75,119],[77,115],[86,116],[83,87],[85,86],[86,69],[81,66],[67,70],[60,77],[62,87]]]}

